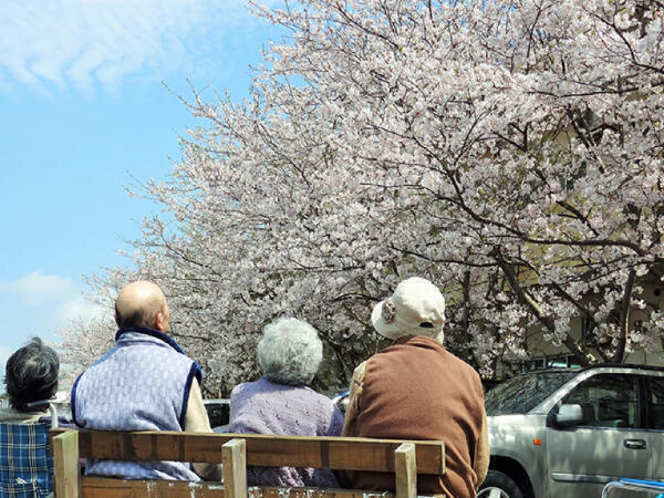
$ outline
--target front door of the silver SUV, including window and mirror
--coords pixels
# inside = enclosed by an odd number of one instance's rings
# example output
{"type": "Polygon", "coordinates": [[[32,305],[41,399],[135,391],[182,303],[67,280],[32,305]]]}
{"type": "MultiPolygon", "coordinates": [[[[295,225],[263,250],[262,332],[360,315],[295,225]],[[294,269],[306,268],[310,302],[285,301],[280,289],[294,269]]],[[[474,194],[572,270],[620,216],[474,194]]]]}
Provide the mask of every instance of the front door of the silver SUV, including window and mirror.
{"type": "Polygon", "coordinates": [[[547,427],[551,497],[600,497],[612,478],[651,476],[640,393],[637,375],[598,373],[562,398],[562,404],[581,405],[583,421],[573,427],[547,427]]]}

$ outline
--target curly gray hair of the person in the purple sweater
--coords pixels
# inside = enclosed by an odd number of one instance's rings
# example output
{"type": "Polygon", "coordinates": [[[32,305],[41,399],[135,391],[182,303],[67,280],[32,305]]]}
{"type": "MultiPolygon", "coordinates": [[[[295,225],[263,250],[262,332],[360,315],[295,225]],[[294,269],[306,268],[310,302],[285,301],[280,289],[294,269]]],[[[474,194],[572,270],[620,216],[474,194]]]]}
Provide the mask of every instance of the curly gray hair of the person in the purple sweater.
{"type": "Polygon", "coordinates": [[[258,364],[277,384],[307,385],[323,360],[323,343],[313,326],[295,318],[280,318],[263,330],[258,364]]]}

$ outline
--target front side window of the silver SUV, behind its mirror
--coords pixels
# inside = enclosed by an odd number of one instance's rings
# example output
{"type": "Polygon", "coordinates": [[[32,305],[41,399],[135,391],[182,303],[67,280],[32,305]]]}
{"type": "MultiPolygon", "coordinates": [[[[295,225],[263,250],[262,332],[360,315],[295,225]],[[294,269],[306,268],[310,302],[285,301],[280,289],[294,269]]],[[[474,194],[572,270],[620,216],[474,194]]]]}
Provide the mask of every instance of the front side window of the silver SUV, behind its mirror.
{"type": "Polygon", "coordinates": [[[581,405],[581,426],[636,428],[639,378],[635,375],[598,374],[583,381],[562,403],[581,405]]]}

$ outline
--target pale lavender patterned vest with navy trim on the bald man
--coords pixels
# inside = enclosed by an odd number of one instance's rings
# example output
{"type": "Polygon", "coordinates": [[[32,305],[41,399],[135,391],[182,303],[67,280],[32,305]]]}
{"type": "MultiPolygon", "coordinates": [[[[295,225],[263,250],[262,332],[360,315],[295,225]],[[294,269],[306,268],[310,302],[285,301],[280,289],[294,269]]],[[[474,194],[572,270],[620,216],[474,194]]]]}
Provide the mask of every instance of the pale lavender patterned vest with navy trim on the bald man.
{"type": "MultiPolygon", "coordinates": [[[[72,387],[79,427],[102,430],[184,430],[197,363],[168,335],[146,328],[121,329],[115,346],[72,387]]],[[[125,479],[200,480],[178,461],[89,460],[85,474],[125,479]]]]}

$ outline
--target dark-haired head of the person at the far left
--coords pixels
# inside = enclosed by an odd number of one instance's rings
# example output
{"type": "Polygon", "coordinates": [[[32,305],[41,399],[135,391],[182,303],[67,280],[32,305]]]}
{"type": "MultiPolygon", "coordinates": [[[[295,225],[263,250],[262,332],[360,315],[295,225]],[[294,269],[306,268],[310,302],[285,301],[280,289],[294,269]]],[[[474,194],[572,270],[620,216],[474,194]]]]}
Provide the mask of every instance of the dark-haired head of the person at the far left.
{"type": "Polygon", "coordinates": [[[7,361],[4,385],[9,403],[20,412],[30,412],[28,403],[50,400],[58,391],[60,360],[39,338],[17,350],[7,361]]]}

